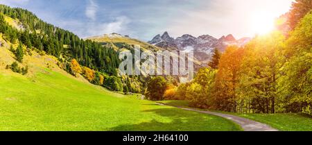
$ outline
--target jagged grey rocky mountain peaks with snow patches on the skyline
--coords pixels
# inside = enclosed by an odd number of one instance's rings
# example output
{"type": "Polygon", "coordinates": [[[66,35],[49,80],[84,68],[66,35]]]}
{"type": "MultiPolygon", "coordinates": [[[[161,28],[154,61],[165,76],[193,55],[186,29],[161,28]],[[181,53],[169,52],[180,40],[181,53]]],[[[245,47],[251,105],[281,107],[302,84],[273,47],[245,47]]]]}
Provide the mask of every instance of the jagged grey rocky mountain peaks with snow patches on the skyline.
{"type": "Polygon", "coordinates": [[[201,35],[194,37],[189,34],[182,35],[174,39],[167,32],[163,35],[156,35],[153,40],[148,43],[159,46],[164,49],[193,51],[196,60],[202,62],[202,65],[207,65],[211,59],[211,54],[214,49],[225,51],[229,45],[243,46],[250,41],[250,38],[244,37],[236,40],[232,34],[216,39],[211,35],[201,35]]]}

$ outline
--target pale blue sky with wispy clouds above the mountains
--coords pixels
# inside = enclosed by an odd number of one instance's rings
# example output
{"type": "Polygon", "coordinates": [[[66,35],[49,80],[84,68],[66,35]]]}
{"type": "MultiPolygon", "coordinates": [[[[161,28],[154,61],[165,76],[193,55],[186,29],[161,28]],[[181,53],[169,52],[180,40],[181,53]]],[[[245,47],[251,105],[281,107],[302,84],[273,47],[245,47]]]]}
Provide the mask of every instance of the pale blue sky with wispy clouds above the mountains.
{"type": "MultiPolygon", "coordinates": [[[[252,19],[278,17],[293,0],[0,0],[26,8],[46,22],[80,37],[120,33],[148,41],[168,31],[221,37],[252,37],[252,19]]],[[[262,20],[261,20],[262,22],[262,20]]]]}

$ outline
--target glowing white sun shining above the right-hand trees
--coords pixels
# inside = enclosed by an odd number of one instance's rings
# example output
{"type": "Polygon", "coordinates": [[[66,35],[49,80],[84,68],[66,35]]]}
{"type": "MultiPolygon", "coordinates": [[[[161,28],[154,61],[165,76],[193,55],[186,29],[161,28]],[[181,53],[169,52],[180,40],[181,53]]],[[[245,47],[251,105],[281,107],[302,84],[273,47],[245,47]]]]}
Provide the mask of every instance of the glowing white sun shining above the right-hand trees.
{"type": "Polygon", "coordinates": [[[275,17],[268,12],[258,12],[252,15],[252,33],[257,35],[265,35],[274,29],[275,17]]]}

